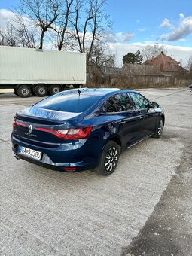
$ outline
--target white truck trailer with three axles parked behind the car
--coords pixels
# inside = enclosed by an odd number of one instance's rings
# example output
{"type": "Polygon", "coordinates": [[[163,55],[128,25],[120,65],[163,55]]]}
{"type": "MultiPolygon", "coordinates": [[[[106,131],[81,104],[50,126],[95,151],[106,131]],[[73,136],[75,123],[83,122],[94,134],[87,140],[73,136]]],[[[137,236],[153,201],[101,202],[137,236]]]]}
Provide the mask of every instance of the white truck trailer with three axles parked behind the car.
{"type": "Polygon", "coordinates": [[[0,46],[0,89],[46,96],[85,83],[85,53],[0,46]]]}

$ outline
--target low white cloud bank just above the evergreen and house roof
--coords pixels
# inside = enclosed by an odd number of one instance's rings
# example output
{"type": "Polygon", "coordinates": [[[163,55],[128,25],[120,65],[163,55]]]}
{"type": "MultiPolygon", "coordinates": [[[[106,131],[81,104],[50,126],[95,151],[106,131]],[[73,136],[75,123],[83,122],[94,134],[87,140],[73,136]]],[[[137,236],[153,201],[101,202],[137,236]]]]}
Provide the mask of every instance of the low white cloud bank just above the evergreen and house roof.
{"type": "MultiPolygon", "coordinates": [[[[126,53],[132,52],[136,53],[137,50],[142,50],[149,42],[137,42],[132,44],[123,44],[123,43],[115,43],[109,44],[111,51],[116,55],[117,66],[122,66],[122,58],[126,53]]],[[[155,42],[151,42],[151,44],[155,44],[155,42]]],[[[166,47],[167,55],[171,56],[173,59],[181,62],[183,66],[187,65],[187,59],[192,56],[192,47],[181,47],[181,46],[173,46],[169,44],[163,44],[166,47]]]]}

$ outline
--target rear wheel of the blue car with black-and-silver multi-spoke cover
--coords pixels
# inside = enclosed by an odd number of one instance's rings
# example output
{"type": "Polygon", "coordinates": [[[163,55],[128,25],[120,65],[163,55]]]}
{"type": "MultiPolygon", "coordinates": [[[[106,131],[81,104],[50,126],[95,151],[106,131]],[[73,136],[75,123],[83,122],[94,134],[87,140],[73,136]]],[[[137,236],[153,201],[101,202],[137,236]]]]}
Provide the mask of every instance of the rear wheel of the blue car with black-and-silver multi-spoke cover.
{"type": "Polygon", "coordinates": [[[99,164],[96,173],[103,176],[111,175],[117,167],[119,160],[120,147],[114,141],[108,141],[99,157],[99,164]]]}

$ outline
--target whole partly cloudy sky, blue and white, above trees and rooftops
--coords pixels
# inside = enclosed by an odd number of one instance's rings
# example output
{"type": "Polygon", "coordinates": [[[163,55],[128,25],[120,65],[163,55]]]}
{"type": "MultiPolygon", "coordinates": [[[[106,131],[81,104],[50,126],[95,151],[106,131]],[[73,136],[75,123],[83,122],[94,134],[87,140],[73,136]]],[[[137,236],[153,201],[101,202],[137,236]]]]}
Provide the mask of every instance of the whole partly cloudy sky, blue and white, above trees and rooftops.
{"type": "MultiPolygon", "coordinates": [[[[0,27],[9,15],[6,10],[18,2],[0,0],[0,27]]],[[[192,56],[191,0],[108,0],[106,14],[113,20],[107,39],[117,66],[126,53],[155,43],[165,45],[167,54],[183,66],[192,56]]]]}

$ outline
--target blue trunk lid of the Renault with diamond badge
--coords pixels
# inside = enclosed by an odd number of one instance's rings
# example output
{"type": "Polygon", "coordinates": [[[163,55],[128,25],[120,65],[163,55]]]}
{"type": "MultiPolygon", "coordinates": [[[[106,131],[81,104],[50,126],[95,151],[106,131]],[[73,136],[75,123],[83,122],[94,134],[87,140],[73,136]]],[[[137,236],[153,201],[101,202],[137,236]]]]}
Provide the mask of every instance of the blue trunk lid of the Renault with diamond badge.
{"type": "Polygon", "coordinates": [[[83,120],[82,113],[53,111],[43,108],[25,108],[16,114],[13,133],[18,139],[46,146],[64,143],[56,136],[57,130],[68,130],[83,120]]]}

